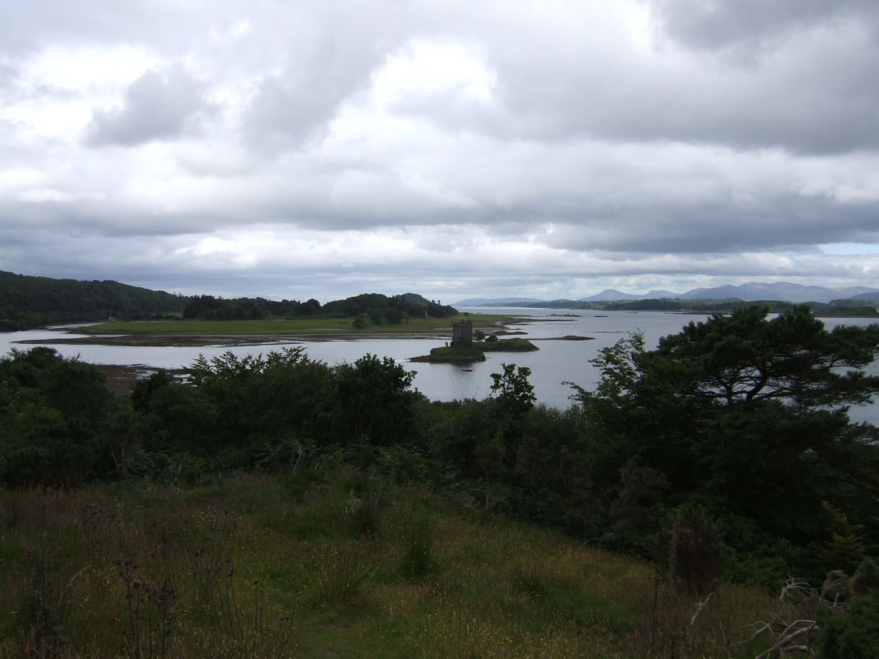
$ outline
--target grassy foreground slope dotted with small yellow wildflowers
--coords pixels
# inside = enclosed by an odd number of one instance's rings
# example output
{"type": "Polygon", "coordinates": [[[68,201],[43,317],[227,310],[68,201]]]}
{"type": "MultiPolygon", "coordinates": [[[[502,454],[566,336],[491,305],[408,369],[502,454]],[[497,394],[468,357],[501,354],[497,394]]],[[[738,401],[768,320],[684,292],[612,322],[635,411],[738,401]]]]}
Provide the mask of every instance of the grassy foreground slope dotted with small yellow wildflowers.
{"type": "Polygon", "coordinates": [[[0,564],[4,657],[753,656],[723,631],[776,606],[691,623],[643,563],[347,467],[0,489],[0,564]]]}

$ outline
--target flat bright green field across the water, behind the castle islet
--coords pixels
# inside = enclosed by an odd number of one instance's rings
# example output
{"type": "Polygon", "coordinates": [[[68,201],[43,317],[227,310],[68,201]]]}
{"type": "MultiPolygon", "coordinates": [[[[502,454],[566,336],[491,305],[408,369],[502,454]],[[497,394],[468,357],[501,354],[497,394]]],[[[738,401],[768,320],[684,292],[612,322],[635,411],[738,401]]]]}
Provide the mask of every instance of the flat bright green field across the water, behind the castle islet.
{"type": "Polygon", "coordinates": [[[475,328],[493,328],[511,319],[505,315],[468,314],[447,318],[414,318],[398,325],[372,325],[353,329],[352,318],[296,318],[258,321],[113,321],[88,328],[95,334],[166,334],[210,336],[308,335],[308,334],[419,334],[451,332],[452,323],[461,320],[473,322],[475,328]]]}

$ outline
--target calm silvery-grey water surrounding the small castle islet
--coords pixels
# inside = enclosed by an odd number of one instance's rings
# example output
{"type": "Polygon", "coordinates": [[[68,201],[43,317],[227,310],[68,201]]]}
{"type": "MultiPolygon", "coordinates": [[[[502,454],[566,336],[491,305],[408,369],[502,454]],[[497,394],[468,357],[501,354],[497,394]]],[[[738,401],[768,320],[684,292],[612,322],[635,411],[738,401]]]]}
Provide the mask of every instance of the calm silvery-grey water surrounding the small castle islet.
{"type": "MultiPolygon", "coordinates": [[[[232,351],[236,355],[265,353],[277,350],[280,345],[301,345],[310,358],[320,359],[329,364],[343,361],[352,362],[371,352],[379,357],[390,357],[403,362],[410,371],[415,371],[415,386],[431,400],[452,401],[462,398],[484,398],[490,393],[491,373],[498,373],[502,363],[515,363],[531,369],[531,382],[534,393],[540,402],[555,407],[569,405],[570,387],[564,381],[576,382],[591,388],[598,380],[597,369],[589,364],[601,348],[613,345],[629,332],[640,329],[644,333],[648,349],[656,347],[660,337],[674,334],[691,321],[701,321],[704,315],[679,315],[663,312],[597,312],[567,309],[526,309],[526,308],[469,308],[461,309],[473,313],[508,314],[530,316],[534,320],[510,329],[526,331],[526,338],[541,339],[563,337],[573,334],[594,337],[592,341],[536,341],[540,347],[534,352],[489,353],[486,361],[468,366],[472,371],[464,371],[462,366],[452,364],[418,364],[406,361],[418,355],[427,354],[431,348],[442,345],[451,339],[361,339],[356,341],[302,341],[284,344],[254,344],[250,346],[201,346],[201,347],[134,347],[112,345],[53,345],[65,357],[82,358],[94,364],[146,365],[161,368],[188,366],[200,354],[206,357],[232,351]],[[560,314],[576,314],[563,317],[560,314]]],[[[867,318],[825,319],[832,327],[838,323],[867,325],[867,318]]],[[[60,330],[40,329],[26,332],[0,333],[0,354],[11,348],[27,349],[29,344],[17,341],[49,340],[55,337],[71,337],[60,330]]],[[[879,375],[879,364],[868,368],[871,374],[879,375]]],[[[852,409],[852,417],[857,420],[879,424],[879,405],[852,409]]]]}

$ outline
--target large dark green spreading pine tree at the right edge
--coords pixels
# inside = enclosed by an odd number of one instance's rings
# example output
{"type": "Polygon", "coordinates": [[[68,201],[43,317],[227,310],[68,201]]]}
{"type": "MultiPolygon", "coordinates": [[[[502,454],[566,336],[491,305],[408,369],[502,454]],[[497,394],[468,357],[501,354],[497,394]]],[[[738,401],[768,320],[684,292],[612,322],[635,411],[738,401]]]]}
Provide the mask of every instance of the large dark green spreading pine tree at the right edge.
{"type": "MultiPolygon", "coordinates": [[[[770,566],[761,549],[779,540],[815,543],[811,574],[851,564],[879,540],[879,445],[875,428],[851,424],[842,406],[879,388],[879,379],[857,370],[877,350],[879,327],[828,331],[802,306],[773,319],[745,308],[691,322],[655,351],[644,350],[641,335],[623,339],[592,360],[598,387],[574,386],[572,395],[592,435],[595,487],[628,491],[616,484],[618,470],[636,458],[663,475],[670,502],[756,523],[753,536],[728,536],[737,570],[760,561],[773,574],[789,568],[770,566]],[[848,529],[836,537],[831,509],[848,529]]],[[[664,505],[645,503],[635,517],[642,523],[664,505]]],[[[628,517],[612,515],[609,540],[619,542],[619,532],[625,545],[643,551],[644,536],[628,517]]]]}

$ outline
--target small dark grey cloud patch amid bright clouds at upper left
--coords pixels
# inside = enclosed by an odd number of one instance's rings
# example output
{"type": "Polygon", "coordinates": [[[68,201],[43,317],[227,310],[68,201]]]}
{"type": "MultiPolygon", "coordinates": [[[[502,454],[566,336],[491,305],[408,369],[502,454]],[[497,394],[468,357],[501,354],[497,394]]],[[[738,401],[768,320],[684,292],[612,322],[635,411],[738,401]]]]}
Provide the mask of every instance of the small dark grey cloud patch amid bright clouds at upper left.
{"type": "Polygon", "coordinates": [[[120,108],[94,112],[87,141],[132,147],[179,137],[207,109],[200,84],[184,69],[149,71],[128,87],[120,108]]]}

